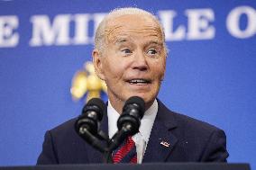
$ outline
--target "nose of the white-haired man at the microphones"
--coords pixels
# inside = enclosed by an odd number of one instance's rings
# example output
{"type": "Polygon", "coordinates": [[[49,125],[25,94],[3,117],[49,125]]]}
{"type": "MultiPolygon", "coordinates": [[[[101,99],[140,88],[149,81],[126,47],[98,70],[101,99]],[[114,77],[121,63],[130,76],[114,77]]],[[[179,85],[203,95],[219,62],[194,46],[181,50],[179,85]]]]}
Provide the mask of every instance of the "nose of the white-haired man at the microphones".
{"type": "Polygon", "coordinates": [[[133,59],[133,69],[139,69],[140,71],[148,70],[148,62],[143,51],[138,51],[136,55],[134,55],[133,59]]]}

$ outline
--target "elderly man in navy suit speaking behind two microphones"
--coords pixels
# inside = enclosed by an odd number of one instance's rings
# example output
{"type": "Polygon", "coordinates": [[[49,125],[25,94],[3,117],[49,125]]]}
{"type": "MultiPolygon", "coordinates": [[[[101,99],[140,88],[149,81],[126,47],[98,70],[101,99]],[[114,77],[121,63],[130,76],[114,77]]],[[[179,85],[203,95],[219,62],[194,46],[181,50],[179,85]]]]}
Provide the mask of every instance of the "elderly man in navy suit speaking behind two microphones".
{"type": "MultiPolygon", "coordinates": [[[[108,13],[97,28],[95,46],[96,74],[105,81],[109,97],[102,122],[109,137],[117,130],[125,101],[134,95],[145,101],[140,131],[133,136],[136,163],[226,162],[223,130],[171,112],[156,99],[165,74],[167,48],[154,15],[138,8],[108,13]]],[[[75,121],[47,131],[38,164],[102,162],[101,153],[78,137],[75,121]]]]}

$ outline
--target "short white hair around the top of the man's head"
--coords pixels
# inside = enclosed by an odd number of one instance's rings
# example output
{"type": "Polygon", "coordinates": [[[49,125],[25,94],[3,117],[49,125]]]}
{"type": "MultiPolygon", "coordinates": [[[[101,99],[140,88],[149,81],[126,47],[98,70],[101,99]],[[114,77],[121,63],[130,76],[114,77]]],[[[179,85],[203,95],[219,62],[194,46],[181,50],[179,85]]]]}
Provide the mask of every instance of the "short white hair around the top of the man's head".
{"type": "Polygon", "coordinates": [[[105,16],[103,21],[99,23],[96,29],[95,49],[98,49],[100,52],[103,52],[105,49],[105,30],[107,28],[107,22],[109,22],[110,20],[113,20],[114,18],[117,18],[122,15],[126,15],[126,14],[138,14],[138,15],[148,16],[153,21],[157,22],[157,24],[160,27],[161,36],[164,41],[164,50],[167,55],[168,49],[166,48],[166,44],[165,44],[165,34],[160,24],[160,21],[154,14],[147,12],[145,10],[142,10],[140,8],[135,8],[135,7],[115,8],[113,11],[111,11],[105,16]]]}

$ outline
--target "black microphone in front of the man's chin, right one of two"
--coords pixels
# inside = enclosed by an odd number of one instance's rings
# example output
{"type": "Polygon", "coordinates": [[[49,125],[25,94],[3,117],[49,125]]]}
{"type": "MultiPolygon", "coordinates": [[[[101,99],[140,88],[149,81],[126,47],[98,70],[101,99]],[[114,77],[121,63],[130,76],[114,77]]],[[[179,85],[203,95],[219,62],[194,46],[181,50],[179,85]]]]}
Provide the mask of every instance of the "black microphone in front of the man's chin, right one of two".
{"type": "Polygon", "coordinates": [[[110,140],[109,152],[117,148],[128,136],[139,132],[145,112],[145,102],[141,97],[130,97],[123,106],[123,113],[117,121],[118,131],[110,140]]]}

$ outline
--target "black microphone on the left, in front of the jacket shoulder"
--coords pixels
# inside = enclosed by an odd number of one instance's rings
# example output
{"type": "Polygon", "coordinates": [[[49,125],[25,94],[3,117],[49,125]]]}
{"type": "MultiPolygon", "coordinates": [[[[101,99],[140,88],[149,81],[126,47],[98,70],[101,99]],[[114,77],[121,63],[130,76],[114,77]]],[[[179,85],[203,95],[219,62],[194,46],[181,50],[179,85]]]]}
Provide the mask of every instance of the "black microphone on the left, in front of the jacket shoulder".
{"type": "Polygon", "coordinates": [[[75,130],[78,135],[101,152],[105,152],[105,148],[99,139],[105,139],[105,137],[103,132],[99,130],[99,125],[104,112],[105,103],[99,98],[93,98],[85,105],[82,114],[75,123],[75,130]]]}

